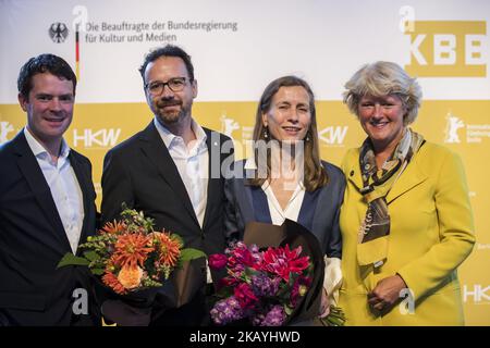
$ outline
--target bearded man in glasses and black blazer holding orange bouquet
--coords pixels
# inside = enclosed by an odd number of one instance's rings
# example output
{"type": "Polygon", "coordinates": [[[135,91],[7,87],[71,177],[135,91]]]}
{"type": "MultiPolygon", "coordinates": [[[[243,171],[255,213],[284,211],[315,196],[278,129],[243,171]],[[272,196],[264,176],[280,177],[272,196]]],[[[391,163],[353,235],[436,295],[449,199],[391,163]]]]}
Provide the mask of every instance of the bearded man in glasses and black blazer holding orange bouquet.
{"type": "MultiPolygon", "coordinates": [[[[121,204],[125,202],[155,219],[157,231],[166,228],[179,234],[186,247],[207,254],[223,252],[221,167],[233,162],[232,140],[201,127],[192,117],[197,82],[191,57],[181,48],[169,45],[152,51],[139,72],[155,117],[144,130],[107,153],[102,174],[102,221],[118,219],[121,204]]],[[[193,261],[192,269],[199,262],[203,259],[193,261]]],[[[186,285],[184,293],[192,295],[176,309],[163,303],[163,293],[157,295],[151,324],[206,324],[208,272],[204,264],[188,279],[198,285],[186,285]]],[[[218,277],[217,274],[211,276],[215,281],[218,277]]]]}

